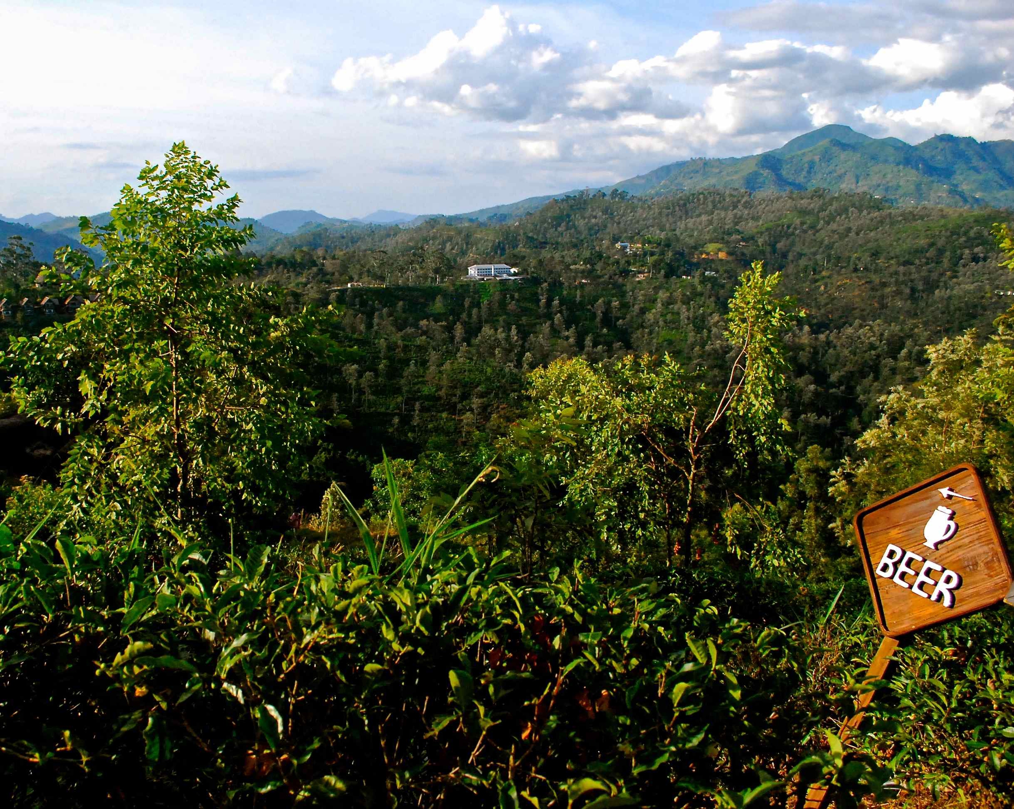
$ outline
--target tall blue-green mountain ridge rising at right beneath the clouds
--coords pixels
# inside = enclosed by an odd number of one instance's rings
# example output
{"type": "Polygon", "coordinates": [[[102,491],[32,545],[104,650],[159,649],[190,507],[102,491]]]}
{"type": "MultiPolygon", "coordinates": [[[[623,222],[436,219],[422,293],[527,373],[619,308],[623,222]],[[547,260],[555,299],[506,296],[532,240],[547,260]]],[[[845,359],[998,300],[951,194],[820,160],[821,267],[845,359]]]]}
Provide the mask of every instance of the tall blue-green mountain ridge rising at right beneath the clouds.
{"type": "MultiPolygon", "coordinates": [[[[936,135],[916,146],[897,138],[871,138],[830,124],[784,146],[748,157],[697,158],[659,166],[612,186],[639,196],[697,189],[788,192],[827,189],[866,192],[894,205],[1014,207],[1014,141],[979,142],[936,135]]],[[[541,208],[582,190],[481,208],[451,219],[504,220],[541,208]]]]}

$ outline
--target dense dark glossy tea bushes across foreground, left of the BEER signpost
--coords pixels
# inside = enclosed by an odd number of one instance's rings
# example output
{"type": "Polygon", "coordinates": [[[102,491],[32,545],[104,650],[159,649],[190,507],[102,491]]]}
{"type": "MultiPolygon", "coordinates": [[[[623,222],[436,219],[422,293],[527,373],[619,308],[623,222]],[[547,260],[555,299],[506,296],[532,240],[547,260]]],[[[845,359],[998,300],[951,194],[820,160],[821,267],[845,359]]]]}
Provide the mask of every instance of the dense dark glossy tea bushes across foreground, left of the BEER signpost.
{"type": "Polygon", "coordinates": [[[12,805],[742,806],[827,710],[791,636],[651,582],[0,531],[12,805]]]}

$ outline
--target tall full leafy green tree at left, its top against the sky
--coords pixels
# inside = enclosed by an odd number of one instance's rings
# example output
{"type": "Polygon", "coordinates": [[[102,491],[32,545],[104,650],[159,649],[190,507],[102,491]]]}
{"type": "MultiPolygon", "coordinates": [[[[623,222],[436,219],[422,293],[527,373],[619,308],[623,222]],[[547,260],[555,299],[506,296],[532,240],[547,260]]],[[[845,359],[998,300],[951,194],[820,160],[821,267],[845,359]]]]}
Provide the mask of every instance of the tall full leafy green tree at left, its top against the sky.
{"type": "MultiPolygon", "coordinates": [[[[81,219],[100,267],[67,252],[97,302],[5,363],[22,412],[73,437],[61,470],[67,519],[144,513],[163,527],[270,512],[289,495],[321,429],[301,369],[305,312],[241,284],[252,236],[235,229],[239,198],[184,143],[126,186],[112,221],[81,219]]],[[[75,288],[70,275],[61,279],[75,288]]]]}

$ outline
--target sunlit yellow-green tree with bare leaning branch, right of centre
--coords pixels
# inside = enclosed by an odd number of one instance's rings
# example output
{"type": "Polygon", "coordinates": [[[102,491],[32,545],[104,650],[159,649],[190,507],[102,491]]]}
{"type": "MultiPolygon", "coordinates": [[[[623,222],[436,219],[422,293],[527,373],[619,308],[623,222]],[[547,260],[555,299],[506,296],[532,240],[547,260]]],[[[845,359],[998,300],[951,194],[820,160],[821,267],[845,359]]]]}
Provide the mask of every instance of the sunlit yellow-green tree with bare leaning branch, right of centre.
{"type": "Polygon", "coordinates": [[[743,273],[725,318],[732,367],[724,389],[669,355],[629,355],[591,365],[557,360],[531,374],[546,462],[566,499],[592,508],[602,541],[618,551],[659,545],[684,564],[705,482],[725,449],[734,466],[781,456],[786,428],[776,404],[784,383],[780,335],[794,314],[775,297],[779,275],[759,262],[743,273]],[[576,421],[575,421],[576,420],[576,421]]]}

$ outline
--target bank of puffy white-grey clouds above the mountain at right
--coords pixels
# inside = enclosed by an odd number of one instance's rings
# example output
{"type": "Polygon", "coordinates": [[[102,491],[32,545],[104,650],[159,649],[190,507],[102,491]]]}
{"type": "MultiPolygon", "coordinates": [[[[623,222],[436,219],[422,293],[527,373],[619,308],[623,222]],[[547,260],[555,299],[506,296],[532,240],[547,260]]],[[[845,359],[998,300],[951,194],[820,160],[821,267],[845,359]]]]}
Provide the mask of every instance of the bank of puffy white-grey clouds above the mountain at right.
{"type": "MultiPolygon", "coordinates": [[[[947,13],[954,10],[947,6],[947,13]]],[[[874,22],[891,29],[901,13],[776,0],[738,19],[760,28],[818,31],[820,25],[802,18],[825,11],[842,24],[853,14],[850,29],[874,22]],[[783,24],[791,18],[798,24],[783,24]]],[[[411,90],[477,121],[523,122],[516,132],[537,128],[553,136],[518,139],[525,159],[586,164],[643,153],[673,159],[702,151],[742,154],[829,123],[859,122],[874,131],[1005,132],[1009,90],[1003,82],[1011,75],[1011,52],[995,40],[976,39],[971,28],[958,30],[965,22],[951,18],[948,24],[948,32],[935,34],[932,26],[919,27],[930,39],[881,41],[867,59],[841,39],[729,42],[708,29],[671,56],[597,64],[591,47],[567,51],[542,28],[516,24],[492,6],[460,39],[445,30],[415,55],[347,59],[334,85],[344,93],[411,90]],[[532,80],[538,71],[545,75],[532,80]],[[883,106],[893,94],[924,87],[936,88],[936,100],[917,109],[883,106]],[[701,100],[685,100],[695,96],[701,100]]]]}

